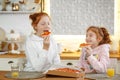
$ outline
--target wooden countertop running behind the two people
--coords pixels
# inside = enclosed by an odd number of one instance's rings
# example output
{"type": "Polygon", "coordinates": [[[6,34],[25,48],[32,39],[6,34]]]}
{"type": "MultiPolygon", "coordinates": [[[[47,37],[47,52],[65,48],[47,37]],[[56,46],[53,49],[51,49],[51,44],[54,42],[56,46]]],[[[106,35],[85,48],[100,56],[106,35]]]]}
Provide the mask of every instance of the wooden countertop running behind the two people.
{"type": "MultiPolygon", "coordinates": [[[[24,58],[25,54],[0,54],[0,58],[24,58]]],[[[61,59],[63,60],[78,60],[80,57],[80,52],[74,53],[61,53],[61,59]]],[[[110,58],[120,59],[120,53],[110,53],[110,58]]]]}

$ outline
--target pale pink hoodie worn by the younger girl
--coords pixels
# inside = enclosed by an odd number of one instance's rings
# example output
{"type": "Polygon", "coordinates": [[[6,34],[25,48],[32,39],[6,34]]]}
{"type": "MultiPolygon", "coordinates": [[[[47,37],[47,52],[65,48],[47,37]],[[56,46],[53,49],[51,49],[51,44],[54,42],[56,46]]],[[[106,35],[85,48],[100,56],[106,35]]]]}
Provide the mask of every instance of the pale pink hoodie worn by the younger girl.
{"type": "Polygon", "coordinates": [[[109,44],[102,44],[94,48],[91,52],[92,55],[86,58],[86,48],[82,48],[82,54],[77,66],[79,68],[85,68],[86,73],[93,71],[104,73],[110,63],[109,50],[109,44]]]}

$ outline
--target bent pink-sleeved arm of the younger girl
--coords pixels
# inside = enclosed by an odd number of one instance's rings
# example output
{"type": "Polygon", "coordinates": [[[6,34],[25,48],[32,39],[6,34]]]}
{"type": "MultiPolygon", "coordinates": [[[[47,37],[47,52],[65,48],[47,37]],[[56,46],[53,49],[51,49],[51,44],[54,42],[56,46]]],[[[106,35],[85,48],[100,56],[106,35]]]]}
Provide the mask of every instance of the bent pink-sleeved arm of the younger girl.
{"type": "Polygon", "coordinates": [[[87,59],[97,73],[104,73],[109,65],[109,48],[107,46],[101,47],[99,59],[96,59],[93,55],[87,59]]]}

